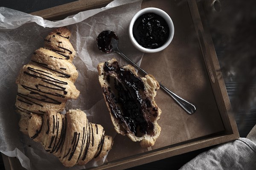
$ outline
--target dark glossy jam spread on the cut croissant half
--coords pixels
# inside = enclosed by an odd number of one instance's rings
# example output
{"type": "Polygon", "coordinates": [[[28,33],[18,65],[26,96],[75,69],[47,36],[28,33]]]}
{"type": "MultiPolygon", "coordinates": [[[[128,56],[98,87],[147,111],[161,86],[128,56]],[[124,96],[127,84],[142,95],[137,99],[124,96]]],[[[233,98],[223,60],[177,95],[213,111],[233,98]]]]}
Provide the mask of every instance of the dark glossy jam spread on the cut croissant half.
{"type": "Polygon", "coordinates": [[[113,62],[112,65],[105,62],[104,71],[109,83],[111,74],[116,75],[112,89],[103,87],[111,113],[126,125],[127,133],[132,132],[137,136],[140,131],[154,135],[151,116],[157,116],[157,108],[152,108],[151,99],[143,95],[145,86],[142,79],[122,68],[118,62],[113,62]]]}

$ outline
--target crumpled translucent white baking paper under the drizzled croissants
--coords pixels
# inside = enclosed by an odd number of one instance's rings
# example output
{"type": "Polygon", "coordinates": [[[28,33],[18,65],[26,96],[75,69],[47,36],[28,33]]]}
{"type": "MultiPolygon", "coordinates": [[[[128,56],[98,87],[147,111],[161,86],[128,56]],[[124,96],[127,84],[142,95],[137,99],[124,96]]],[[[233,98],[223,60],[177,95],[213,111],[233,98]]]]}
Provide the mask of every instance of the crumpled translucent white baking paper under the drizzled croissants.
{"type": "Polygon", "coordinates": [[[116,57],[120,65],[127,64],[118,54],[104,54],[98,50],[96,37],[103,30],[115,31],[119,36],[119,49],[140,65],[143,53],[137,51],[128,38],[128,25],[141,9],[141,0],[115,0],[104,8],[83,11],[60,21],[0,7],[0,151],[16,156],[28,170],[79,170],[99,166],[105,159],[90,161],[85,166],[64,167],[58,158],[44,151],[40,143],[32,141],[19,131],[19,114],[15,113],[17,85],[15,79],[20,68],[29,62],[32,53],[44,45],[44,38],[52,27],[67,26],[76,50],[73,61],[79,71],[76,88],[77,100],[70,100],[66,110],[81,109],[93,123],[101,124],[106,134],[115,136],[108,109],[103,101],[96,67],[99,62],[116,57]],[[131,50],[133,49],[133,50],[131,50]]]}

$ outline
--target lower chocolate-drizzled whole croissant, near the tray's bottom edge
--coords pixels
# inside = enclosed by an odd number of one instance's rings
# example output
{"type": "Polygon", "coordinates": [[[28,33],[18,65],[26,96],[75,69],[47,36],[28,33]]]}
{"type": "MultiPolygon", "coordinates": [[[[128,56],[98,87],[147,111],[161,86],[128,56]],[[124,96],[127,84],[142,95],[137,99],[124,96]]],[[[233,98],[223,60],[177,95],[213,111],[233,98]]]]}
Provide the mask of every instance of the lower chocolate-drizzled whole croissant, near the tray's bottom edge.
{"type": "Polygon", "coordinates": [[[28,133],[66,167],[83,165],[93,158],[101,159],[113,144],[103,127],[90,123],[81,110],[70,110],[64,115],[52,111],[44,116],[31,114],[28,133]]]}

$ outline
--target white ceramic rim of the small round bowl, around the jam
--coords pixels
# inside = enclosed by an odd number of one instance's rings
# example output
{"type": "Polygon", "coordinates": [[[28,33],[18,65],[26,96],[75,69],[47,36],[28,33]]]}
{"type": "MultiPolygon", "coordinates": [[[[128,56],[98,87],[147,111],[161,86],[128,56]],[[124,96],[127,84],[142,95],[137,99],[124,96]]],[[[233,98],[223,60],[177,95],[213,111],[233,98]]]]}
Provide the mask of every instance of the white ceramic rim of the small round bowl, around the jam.
{"type": "Polygon", "coordinates": [[[169,15],[165,11],[163,11],[163,10],[161,10],[159,8],[144,8],[144,9],[138,11],[134,15],[134,17],[131,19],[131,23],[129,25],[129,37],[130,37],[130,40],[131,40],[132,44],[138,50],[140,50],[140,51],[142,51],[144,53],[156,53],[156,52],[162,51],[163,49],[165,49],[172,42],[173,35],[174,35],[174,26],[173,26],[171,17],[169,17],[169,15]],[[166,42],[162,46],[160,46],[158,48],[155,48],[155,49],[144,48],[143,46],[141,46],[135,40],[135,38],[133,36],[132,29],[133,29],[135,21],[138,19],[138,17],[140,17],[141,15],[146,14],[146,13],[154,13],[154,14],[160,15],[161,17],[163,17],[164,20],[166,20],[166,23],[169,26],[170,33],[169,33],[168,39],[166,40],[166,42]]]}

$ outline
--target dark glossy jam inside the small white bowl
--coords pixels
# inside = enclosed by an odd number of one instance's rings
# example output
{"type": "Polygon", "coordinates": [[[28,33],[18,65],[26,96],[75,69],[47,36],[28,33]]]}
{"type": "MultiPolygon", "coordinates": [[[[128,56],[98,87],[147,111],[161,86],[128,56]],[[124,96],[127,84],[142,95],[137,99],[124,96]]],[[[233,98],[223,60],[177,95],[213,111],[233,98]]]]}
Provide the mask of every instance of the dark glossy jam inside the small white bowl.
{"type": "Polygon", "coordinates": [[[146,13],[134,23],[133,36],[144,48],[155,49],[161,47],[169,37],[169,26],[160,15],[146,13]]]}

